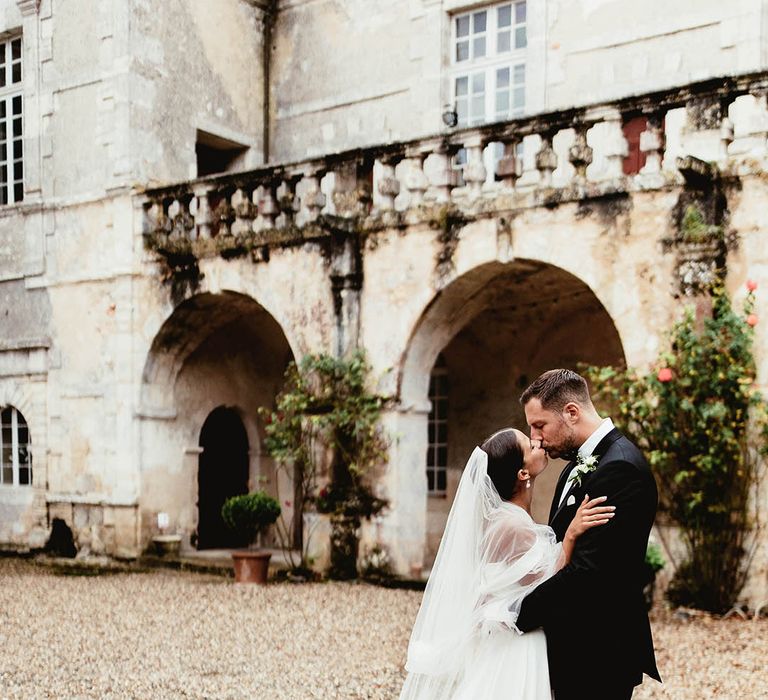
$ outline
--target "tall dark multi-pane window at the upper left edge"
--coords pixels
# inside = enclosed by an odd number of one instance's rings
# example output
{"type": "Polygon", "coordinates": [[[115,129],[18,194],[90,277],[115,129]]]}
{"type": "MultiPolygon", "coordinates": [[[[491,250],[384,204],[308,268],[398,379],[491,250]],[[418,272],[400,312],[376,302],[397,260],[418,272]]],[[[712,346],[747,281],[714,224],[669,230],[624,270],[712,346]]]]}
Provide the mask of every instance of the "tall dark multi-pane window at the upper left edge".
{"type": "Polygon", "coordinates": [[[24,199],[21,37],[0,41],[0,205],[24,199]]]}

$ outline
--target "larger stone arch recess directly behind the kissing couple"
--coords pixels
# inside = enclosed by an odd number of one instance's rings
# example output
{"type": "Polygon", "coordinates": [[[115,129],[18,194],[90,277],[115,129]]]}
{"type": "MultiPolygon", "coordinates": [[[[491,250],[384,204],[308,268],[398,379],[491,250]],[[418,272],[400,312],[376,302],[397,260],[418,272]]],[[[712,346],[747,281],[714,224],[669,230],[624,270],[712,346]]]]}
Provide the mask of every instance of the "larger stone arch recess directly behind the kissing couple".
{"type": "MultiPolygon", "coordinates": [[[[434,295],[412,330],[399,367],[398,397],[410,446],[409,454],[398,460],[407,466],[400,469],[398,493],[393,494],[398,503],[410,504],[403,512],[416,518],[413,530],[423,528],[427,566],[474,445],[499,427],[524,428],[518,404],[522,388],[553,366],[624,361],[619,331],[601,300],[561,267],[520,258],[487,262],[434,295]],[[438,355],[445,358],[451,392],[448,488],[442,500],[428,497],[423,466],[430,372],[438,355]],[[416,474],[406,474],[406,469],[416,474]],[[426,518],[417,515],[419,507],[426,510],[426,518]]],[[[540,519],[545,518],[558,472],[552,465],[537,489],[534,514],[540,519]]],[[[405,547],[411,561],[417,559],[416,548],[415,542],[405,547]]]]}

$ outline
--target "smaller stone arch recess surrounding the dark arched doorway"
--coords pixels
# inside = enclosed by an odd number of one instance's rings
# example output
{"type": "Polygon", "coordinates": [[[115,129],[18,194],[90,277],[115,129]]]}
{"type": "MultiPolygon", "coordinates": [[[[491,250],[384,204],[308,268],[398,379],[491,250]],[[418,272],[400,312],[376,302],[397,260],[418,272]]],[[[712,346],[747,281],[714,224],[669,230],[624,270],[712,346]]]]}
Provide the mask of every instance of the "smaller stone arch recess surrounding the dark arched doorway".
{"type": "MultiPolygon", "coordinates": [[[[247,488],[278,495],[278,474],[261,449],[259,408],[271,407],[294,354],[281,325],[252,297],[203,293],[180,304],[153,339],[142,376],[140,465],[142,537],[157,513],[197,546],[200,434],[220,406],[235,410],[246,433],[247,488]]],[[[206,545],[204,545],[206,546],[206,545]]],[[[207,546],[211,546],[210,544],[207,546]]]]}

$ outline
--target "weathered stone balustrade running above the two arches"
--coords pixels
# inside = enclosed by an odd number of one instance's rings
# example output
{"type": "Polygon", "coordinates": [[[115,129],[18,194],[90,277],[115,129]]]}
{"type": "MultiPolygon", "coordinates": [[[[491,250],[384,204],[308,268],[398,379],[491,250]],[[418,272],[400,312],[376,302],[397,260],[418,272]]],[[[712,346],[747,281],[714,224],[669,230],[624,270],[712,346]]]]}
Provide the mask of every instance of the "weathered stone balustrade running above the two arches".
{"type": "Polygon", "coordinates": [[[684,173],[676,168],[677,157],[708,161],[724,172],[736,168],[738,158],[741,171],[747,160],[752,170],[762,169],[768,156],[766,94],[768,74],[721,78],[200,178],[146,191],[144,233],[169,240],[262,234],[268,245],[311,236],[321,216],[337,224],[362,219],[366,228],[375,229],[402,225],[431,205],[452,204],[477,214],[679,184],[684,173]],[[753,96],[754,104],[746,131],[736,141],[748,142],[749,148],[735,142],[729,118],[731,105],[745,95],[753,96]],[[675,110],[682,126],[671,154],[668,117],[675,110]],[[645,120],[639,137],[645,162],[639,172],[625,175],[624,125],[637,117],[645,120]]]}

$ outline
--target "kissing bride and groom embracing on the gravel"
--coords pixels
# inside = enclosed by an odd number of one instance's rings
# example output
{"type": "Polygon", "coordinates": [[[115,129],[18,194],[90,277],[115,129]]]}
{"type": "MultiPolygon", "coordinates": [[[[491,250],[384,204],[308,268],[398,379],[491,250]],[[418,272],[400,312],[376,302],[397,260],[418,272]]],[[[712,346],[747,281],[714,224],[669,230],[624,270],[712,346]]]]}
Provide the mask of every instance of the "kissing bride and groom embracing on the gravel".
{"type": "Polygon", "coordinates": [[[469,458],[408,645],[401,700],[625,700],[660,680],[642,589],[656,483],[640,450],[565,369],[522,394],[530,433],[469,458]],[[569,460],[549,524],[548,459],[569,460]]]}

